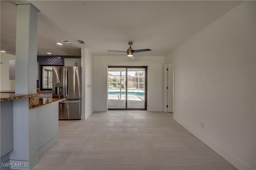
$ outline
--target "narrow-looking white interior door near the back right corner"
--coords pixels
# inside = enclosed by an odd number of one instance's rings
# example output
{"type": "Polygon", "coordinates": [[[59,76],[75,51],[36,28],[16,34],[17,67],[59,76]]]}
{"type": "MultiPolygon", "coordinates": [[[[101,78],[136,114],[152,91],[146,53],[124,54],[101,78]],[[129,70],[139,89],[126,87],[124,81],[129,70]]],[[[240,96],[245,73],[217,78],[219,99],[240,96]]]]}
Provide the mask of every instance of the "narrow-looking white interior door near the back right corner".
{"type": "Polygon", "coordinates": [[[168,112],[173,112],[173,63],[168,64],[168,112]]]}

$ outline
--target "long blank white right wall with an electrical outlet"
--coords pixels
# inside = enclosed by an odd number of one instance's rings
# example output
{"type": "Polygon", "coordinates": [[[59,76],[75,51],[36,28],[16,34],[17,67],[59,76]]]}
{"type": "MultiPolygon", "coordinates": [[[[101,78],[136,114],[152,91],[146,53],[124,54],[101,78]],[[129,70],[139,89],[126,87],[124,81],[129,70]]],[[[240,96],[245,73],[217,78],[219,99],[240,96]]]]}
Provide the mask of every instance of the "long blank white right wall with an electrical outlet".
{"type": "Polygon", "coordinates": [[[175,59],[174,119],[240,170],[256,169],[255,9],[243,2],[165,59],[175,59]]]}

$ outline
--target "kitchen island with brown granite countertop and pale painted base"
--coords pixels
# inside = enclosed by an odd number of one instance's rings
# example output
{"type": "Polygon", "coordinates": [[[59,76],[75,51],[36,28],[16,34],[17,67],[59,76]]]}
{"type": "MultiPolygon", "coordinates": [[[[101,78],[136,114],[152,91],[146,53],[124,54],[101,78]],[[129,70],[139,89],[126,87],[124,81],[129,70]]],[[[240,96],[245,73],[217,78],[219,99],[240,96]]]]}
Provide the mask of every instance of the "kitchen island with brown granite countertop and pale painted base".
{"type": "MultiPolygon", "coordinates": [[[[58,102],[66,99],[38,96],[0,93],[1,163],[19,163],[27,166],[22,169],[32,169],[58,141],[58,102]]],[[[1,167],[9,169],[20,167],[1,167]]]]}

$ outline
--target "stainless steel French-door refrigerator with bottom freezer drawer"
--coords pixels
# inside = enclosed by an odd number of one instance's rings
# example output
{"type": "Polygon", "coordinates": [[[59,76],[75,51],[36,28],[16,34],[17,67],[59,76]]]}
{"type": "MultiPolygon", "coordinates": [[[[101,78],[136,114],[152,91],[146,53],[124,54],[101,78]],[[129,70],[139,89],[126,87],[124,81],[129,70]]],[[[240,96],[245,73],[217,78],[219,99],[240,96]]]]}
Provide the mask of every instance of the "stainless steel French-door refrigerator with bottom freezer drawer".
{"type": "Polygon", "coordinates": [[[81,67],[52,67],[52,98],[59,102],[59,120],[81,119],[81,67]]]}

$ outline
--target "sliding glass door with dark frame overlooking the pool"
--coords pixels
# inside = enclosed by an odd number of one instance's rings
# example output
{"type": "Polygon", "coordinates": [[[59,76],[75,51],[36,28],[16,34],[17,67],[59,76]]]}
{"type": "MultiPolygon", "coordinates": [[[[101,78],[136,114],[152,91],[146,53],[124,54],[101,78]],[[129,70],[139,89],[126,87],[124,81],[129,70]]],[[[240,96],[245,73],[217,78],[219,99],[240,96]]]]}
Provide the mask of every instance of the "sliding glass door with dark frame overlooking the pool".
{"type": "Polygon", "coordinates": [[[146,109],[146,66],[108,67],[108,109],[146,109]]]}

